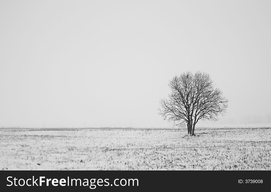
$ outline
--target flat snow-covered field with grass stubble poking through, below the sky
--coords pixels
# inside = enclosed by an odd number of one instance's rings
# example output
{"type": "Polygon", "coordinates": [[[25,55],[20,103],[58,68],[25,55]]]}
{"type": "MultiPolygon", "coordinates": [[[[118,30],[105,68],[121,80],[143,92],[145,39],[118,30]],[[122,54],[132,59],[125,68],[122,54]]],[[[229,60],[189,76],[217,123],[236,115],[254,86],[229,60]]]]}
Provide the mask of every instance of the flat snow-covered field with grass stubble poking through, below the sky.
{"type": "Polygon", "coordinates": [[[271,170],[271,128],[0,129],[0,170],[271,170]]]}

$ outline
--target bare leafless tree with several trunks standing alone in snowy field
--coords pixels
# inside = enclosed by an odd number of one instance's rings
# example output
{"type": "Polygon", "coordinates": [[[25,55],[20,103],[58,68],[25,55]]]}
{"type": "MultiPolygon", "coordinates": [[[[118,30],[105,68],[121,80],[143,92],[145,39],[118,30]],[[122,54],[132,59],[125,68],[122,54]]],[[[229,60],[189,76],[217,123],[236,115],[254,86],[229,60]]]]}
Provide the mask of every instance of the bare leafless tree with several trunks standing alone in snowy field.
{"type": "Polygon", "coordinates": [[[171,93],[168,99],[160,100],[160,115],[176,126],[186,123],[190,135],[195,135],[195,126],[200,119],[217,121],[217,116],[223,115],[228,106],[228,100],[207,73],[176,75],[168,86],[171,93]]]}

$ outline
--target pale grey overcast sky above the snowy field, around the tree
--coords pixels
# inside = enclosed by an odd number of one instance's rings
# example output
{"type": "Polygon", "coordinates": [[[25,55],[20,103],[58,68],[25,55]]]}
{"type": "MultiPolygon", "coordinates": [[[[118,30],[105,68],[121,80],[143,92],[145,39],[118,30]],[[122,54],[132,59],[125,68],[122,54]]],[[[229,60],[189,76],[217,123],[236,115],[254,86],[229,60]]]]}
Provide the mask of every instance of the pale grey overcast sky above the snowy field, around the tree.
{"type": "Polygon", "coordinates": [[[0,126],[171,126],[168,81],[211,75],[221,123],[271,122],[271,1],[0,0],[0,126]]]}

